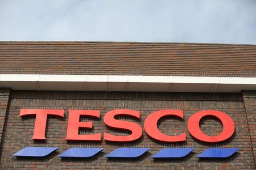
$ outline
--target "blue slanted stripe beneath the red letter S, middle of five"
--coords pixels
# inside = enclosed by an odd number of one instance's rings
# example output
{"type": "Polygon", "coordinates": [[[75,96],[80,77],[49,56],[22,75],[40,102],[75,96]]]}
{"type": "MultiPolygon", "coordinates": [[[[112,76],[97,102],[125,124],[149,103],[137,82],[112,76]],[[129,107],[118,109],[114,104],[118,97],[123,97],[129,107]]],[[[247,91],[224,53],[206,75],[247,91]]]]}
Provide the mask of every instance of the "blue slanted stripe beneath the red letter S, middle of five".
{"type": "Polygon", "coordinates": [[[106,158],[138,158],[148,150],[150,150],[150,148],[117,148],[106,155],[106,158]]]}

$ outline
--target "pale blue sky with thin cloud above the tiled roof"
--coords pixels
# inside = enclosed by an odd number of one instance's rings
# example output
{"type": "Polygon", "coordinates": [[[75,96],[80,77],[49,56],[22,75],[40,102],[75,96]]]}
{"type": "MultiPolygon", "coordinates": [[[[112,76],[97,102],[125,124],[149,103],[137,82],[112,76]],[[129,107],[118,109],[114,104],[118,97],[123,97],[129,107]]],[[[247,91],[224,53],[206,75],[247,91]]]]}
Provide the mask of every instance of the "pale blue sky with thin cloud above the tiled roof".
{"type": "Polygon", "coordinates": [[[0,0],[0,41],[256,44],[256,1],[0,0]]]}

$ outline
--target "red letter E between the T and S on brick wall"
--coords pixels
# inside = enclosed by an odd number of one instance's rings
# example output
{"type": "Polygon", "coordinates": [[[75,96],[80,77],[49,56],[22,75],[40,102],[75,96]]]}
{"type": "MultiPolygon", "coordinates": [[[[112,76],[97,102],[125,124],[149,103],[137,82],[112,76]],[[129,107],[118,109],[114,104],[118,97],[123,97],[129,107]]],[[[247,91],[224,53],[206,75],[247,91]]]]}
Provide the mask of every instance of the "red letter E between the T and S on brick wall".
{"type": "Polygon", "coordinates": [[[68,110],[67,141],[101,141],[101,133],[80,135],[79,128],[92,129],[92,122],[80,122],[80,116],[100,118],[100,111],[68,110]]]}

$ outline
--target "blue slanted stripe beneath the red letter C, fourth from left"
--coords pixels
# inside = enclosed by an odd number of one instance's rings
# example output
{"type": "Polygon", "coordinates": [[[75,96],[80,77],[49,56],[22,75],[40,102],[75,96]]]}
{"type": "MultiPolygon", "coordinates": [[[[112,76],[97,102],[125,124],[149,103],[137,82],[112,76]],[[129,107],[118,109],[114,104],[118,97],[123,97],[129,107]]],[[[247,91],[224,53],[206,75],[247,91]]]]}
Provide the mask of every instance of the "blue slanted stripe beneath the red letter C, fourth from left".
{"type": "Polygon", "coordinates": [[[183,158],[187,156],[190,152],[194,150],[191,148],[163,148],[162,150],[156,152],[151,158],[160,159],[160,158],[183,158]]]}

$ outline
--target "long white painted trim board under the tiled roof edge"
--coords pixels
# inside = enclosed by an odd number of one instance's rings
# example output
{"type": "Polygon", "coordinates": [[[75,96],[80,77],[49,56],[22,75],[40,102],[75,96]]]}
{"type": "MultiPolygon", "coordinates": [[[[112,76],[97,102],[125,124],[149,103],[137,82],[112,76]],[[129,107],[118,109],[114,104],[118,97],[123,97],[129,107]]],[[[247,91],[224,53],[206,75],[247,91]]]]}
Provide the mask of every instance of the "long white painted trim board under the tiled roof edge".
{"type": "Polygon", "coordinates": [[[256,77],[0,74],[13,90],[241,92],[256,90],[256,77]]]}

